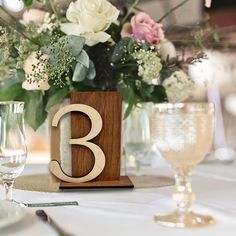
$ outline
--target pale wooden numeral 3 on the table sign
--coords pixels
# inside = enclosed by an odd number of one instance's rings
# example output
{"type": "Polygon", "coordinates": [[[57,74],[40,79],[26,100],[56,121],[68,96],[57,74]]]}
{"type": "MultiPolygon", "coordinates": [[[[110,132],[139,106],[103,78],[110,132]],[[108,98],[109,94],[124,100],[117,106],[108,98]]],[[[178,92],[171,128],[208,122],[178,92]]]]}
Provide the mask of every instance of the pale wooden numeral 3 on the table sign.
{"type": "Polygon", "coordinates": [[[63,181],[71,183],[83,183],[95,179],[105,167],[106,159],[104,152],[99,146],[89,142],[89,140],[96,137],[102,130],[102,118],[98,111],[90,106],[84,104],[71,104],[63,107],[55,114],[52,120],[52,126],[57,127],[61,117],[72,111],[83,112],[91,120],[92,125],[90,132],[82,138],[70,139],[70,144],[86,146],[93,152],[95,158],[93,169],[83,177],[70,177],[64,173],[60,163],[56,160],[52,160],[50,162],[49,169],[57,178],[63,181]]]}

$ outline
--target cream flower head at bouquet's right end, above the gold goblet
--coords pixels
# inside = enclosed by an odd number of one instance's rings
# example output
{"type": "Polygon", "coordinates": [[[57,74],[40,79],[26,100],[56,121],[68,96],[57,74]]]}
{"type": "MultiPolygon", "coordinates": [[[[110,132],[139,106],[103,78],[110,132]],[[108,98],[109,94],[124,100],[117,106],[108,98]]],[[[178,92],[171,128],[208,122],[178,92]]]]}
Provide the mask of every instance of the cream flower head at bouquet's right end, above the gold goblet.
{"type": "Polygon", "coordinates": [[[175,71],[162,83],[169,102],[182,102],[194,91],[194,82],[182,70],[175,71]]]}

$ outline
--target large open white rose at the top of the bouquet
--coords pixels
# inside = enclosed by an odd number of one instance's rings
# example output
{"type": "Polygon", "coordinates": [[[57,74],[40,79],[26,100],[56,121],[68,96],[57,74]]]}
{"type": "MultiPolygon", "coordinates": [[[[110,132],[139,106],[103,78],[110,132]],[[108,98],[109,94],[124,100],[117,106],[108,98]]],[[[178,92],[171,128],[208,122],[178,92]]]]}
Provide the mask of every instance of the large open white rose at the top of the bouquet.
{"type": "Polygon", "coordinates": [[[106,42],[111,36],[105,31],[116,21],[119,11],[107,0],[77,0],[67,9],[71,23],[61,24],[67,35],[82,36],[88,46],[106,42]]]}

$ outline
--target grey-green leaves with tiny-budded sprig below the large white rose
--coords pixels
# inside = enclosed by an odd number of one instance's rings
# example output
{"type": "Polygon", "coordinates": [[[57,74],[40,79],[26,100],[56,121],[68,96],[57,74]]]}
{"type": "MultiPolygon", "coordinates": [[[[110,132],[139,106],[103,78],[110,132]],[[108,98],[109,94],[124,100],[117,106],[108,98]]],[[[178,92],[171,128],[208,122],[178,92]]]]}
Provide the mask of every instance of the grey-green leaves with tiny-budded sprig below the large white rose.
{"type": "Polygon", "coordinates": [[[94,79],[95,70],[88,54],[83,50],[85,39],[78,36],[62,36],[58,41],[44,47],[48,54],[47,74],[50,84],[57,87],[68,85],[69,76],[72,81],[94,79]]]}

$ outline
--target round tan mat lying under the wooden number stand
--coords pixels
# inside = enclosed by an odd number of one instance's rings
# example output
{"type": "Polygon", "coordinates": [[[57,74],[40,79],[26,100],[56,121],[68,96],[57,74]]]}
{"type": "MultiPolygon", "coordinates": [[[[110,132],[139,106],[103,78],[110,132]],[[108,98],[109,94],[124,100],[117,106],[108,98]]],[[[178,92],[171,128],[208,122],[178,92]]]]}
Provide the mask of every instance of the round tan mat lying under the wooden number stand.
{"type": "MultiPolygon", "coordinates": [[[[174,179],[166,176],[129,176],[134,188],[159,188],[174,184],[174,179]]],[[[25,175],[15,180],[16,189],[36,192],[65,192],[70,190],[59,189],[60,182],[50,174],[25,175]]],[[[73,191],[83,191],[73,189],[73,191]]]]}

